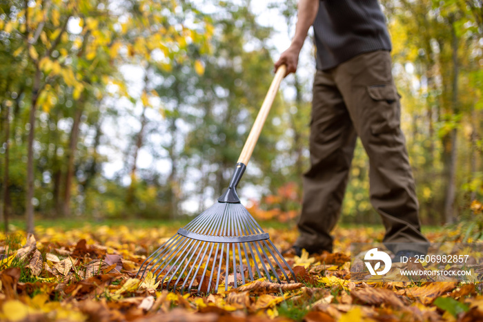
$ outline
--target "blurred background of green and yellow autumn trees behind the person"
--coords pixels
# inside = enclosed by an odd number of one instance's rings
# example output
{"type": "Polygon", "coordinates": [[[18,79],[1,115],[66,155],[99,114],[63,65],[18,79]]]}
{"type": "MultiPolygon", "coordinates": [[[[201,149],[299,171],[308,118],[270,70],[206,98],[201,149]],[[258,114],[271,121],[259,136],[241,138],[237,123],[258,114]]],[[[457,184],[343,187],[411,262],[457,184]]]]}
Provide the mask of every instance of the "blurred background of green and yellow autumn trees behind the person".
{"type": "MultiPolygon", "coordinates": [[[[483,198],[483,6],[382,0],[422,221],[483,198]]],[[[273,77],[277,24],[296,1],[25,0],[0,3],[0,216],[198,214],[228,184],[273,77]]],[[[277,37],[278,38],[277,38],[277,37]]],[[[294,220],[307,169],[308,37],[240,184],[259,219],[294,220]]],[[[379,223],[357,145],[342,220],[379,223]]]]}

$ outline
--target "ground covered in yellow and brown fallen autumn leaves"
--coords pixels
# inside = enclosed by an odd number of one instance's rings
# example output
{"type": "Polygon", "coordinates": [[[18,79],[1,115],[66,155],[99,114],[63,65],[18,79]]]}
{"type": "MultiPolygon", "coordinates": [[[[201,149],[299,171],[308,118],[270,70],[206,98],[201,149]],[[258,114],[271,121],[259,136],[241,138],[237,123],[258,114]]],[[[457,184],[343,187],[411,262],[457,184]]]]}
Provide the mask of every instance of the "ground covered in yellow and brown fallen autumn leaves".
{"type": "MultiPolygon", "coordinates": [[[[383,231],[338,228],[334,254],[287,257],[302,283],[258,280],[208,296],[159,290],[136,276],[172,228],[39,228],[1,236],[1,321],[482,321],[481,284],[353,283],[350,243],[383,231]]],[[[286,249],[295,229],[267,229],[286,249]]],[[[427,234],[432,241],[444,232],[427,234]]],[[[224,290],[224,289],[223,289],[224,290]]]]}

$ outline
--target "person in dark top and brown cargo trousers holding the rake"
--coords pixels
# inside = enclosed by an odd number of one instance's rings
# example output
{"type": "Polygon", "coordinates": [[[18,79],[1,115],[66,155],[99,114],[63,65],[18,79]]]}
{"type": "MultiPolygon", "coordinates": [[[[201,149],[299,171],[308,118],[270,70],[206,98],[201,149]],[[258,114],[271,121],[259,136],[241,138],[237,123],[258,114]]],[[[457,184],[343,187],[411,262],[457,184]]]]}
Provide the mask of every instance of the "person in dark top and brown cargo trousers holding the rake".
{"type": "Polygon", "coordinates": [[[400,129],[391,40],[377,0],[299,0],[295,36],[275,62],[295,73],[308,29],[316,53],[310,169],[304,173],[299,238],[292,251],[333,251],[334,229],[357,137],[369,159],[370,197],[386,228],[393,261],[426,254],[415,183],[400,129]],[[395,243],[395,244],[393,244],[395,243]],[[410,244],[407,244],[410,243],[410,244]]]}

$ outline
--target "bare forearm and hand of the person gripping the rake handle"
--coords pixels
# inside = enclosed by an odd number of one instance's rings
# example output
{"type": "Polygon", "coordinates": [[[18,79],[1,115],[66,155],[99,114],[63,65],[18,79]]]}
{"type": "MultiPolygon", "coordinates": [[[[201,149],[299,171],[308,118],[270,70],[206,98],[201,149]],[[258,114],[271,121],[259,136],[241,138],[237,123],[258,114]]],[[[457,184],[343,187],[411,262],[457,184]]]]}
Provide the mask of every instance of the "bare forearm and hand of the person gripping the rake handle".
{"type": "Polygon", "coordinates": [[[297,5],[298,14],[297,24],[295,25],[295,36],[292,39],[290,47],[280,55],[280,58],[275,63],[275,70],[283,64],[287,66],[286,75],[295,73],[295,70],[297,70],[300,50],[302,50],[302,46],[304,46],[308,29],[311,28],[315,16],[317,16],[319,1],[320,0],[299,0],[297,5]]]}

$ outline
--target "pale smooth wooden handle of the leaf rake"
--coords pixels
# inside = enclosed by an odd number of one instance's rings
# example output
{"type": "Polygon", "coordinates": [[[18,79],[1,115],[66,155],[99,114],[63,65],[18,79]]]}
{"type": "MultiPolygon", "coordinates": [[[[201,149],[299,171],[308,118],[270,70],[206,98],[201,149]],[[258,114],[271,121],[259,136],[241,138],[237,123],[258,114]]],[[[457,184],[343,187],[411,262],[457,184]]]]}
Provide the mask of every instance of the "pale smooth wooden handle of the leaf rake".
{"type": "Polygon", "coordinates": [[[260,133],[262,132],[262,128],[264,127],[268,112],[270,112],[270,107],[272,107],[273,100],[275,100],[280,83],[282,82],[282,79],[284,79],[286,69],[287,67],[285,65],[282,65],[277,69],[277,73],[275,73],[272,84],[270,85],[270,88],[268,88],[268,93],[266,93],[264,103],[258,112],[255,123],[253,123],[250,134],[248,134],[248,138],[246,139],[237,163],[241,162],[247,165],[248,161],[250,161],[253,149],[255,149],[255,144],[257,144],[260,133]]]}

